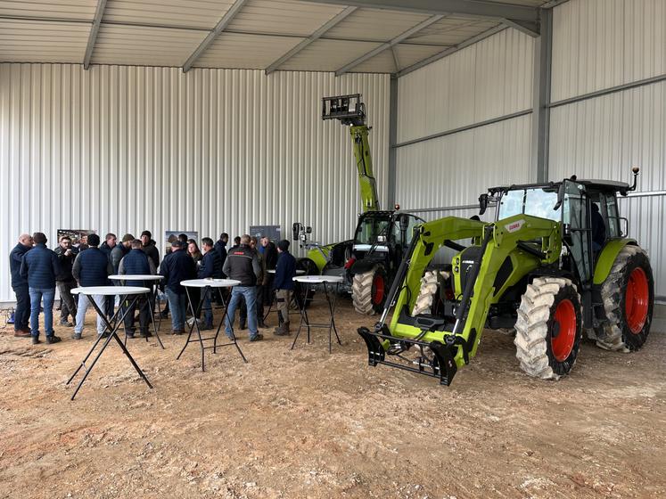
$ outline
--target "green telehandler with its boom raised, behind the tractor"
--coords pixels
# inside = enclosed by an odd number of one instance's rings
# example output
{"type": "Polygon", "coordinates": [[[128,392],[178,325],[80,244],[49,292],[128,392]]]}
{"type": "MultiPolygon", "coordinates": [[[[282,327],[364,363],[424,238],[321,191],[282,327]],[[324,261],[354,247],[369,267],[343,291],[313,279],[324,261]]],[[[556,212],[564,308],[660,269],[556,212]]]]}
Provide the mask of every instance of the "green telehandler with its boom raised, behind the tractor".
{"type": "Polygon", "coordinates": [[[343,289],[351,293],[354,308],[360,314],[382,311],[387,291],[395,276],[411,233],[423,219],[395,210],[380,210],[377,185],[367,135],[366,106],[361,94],[325,97],[322,119],[339,119],[349,127],[361,188],[363,213],[358,216],[354,239],[321,245],[308,241],[312,229],[292,225],[293,239],[308,249],[298,268],[307,274],[333,274],[345,278],[343,289]]]}

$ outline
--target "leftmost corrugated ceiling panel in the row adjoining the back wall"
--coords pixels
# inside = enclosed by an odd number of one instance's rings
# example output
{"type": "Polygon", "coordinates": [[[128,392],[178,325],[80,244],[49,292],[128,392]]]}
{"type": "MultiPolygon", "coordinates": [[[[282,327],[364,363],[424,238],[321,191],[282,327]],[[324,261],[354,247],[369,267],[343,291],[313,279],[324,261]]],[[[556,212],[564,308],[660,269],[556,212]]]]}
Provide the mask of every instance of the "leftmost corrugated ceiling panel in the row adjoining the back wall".
{"type": "Polygon", "coordinates": [[[90,25],[0,20],[0,61],[83,62],[90,25]]]}

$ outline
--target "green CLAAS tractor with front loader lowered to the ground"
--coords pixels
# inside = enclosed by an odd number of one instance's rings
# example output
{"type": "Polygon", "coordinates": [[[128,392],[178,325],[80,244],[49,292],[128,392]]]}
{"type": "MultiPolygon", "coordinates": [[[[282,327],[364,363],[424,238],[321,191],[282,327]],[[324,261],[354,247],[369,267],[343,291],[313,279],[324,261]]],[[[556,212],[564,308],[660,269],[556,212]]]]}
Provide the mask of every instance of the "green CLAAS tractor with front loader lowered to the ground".
{"type": "Polygon", "coordinates": [[[497,202],[495,222],[445,217],[417,227],[380,321],[358,329],[369,364],[449,385],[484,328],[514,328],[522,370],[541,379],[571,372],[584,333],[601,348],[641,348],[653,273],[645,250],[624,236],[617,202],[636,189],[633,172],[631,186],[573,176],[495,187],[480,197],[481,213],[497,202]],[[451,264],[429,269],[443,247],[455,251],[451,264]]]}

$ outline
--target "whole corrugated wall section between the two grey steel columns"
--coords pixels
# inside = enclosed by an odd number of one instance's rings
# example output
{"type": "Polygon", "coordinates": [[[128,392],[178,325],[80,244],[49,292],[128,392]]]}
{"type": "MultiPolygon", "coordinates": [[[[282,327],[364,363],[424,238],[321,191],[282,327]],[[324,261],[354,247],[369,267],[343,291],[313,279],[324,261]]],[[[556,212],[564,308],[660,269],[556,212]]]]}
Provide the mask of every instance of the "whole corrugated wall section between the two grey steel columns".
{"type": "MultiPolygon", "coordinates": [[[[506,29],[399,78],[398,142],[532,105],[534,41],[506,29]]],[[[399,147],[396,201],[408,209],[469,204],[492,184],[524,182],[531,115],[399,147]]]]}

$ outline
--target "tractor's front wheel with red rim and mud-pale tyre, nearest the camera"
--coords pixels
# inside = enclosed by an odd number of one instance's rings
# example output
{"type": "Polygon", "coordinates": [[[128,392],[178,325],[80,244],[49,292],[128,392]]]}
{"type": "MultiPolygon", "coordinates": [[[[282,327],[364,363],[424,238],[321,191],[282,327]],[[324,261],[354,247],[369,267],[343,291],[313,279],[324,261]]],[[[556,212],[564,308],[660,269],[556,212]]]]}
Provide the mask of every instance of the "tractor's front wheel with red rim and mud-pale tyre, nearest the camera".
{"type": "Polygon", "coordinates": [[[537,277],[522,295],[515,323],[515,356],[530,376],[557,380],[576,362],[582,339],[576,286],[563,277],[537,277]]]}

